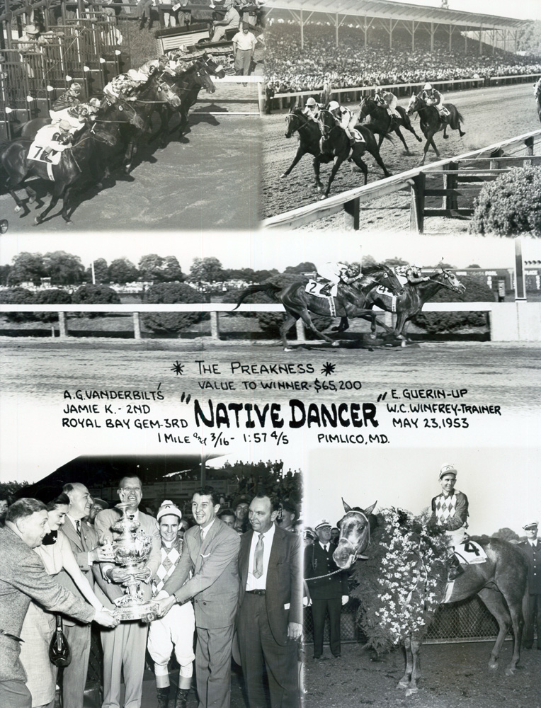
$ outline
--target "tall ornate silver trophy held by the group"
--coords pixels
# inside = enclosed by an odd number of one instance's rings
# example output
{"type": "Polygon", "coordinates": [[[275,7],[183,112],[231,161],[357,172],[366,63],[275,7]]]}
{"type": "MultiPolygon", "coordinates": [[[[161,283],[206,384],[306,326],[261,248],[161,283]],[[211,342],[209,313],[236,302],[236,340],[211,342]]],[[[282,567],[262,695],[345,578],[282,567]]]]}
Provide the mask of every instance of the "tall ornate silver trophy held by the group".
{"type": "Polygon", "coordinates": [[[111,530],[120,534],[113,540],[115,563],[130,573],[130,579],[121,583],[125,594],[114,600],[114,614],[121,622],[126,619],[152,622],[157,617],[158,605],[144,600],[141,582],[135,577],[150,555],[152,539],[139,528],[138,521],[127,516],[127,506],[127,503],[117,505],[122,511],[122,517],[111,526],[111,530]]]}

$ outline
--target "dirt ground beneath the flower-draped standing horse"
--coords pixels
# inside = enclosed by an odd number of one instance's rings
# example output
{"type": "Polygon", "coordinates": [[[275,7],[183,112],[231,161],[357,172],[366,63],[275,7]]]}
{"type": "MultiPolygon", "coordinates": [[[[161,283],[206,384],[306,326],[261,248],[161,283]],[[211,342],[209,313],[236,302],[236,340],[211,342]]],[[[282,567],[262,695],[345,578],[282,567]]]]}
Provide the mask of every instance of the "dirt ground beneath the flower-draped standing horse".
{"type": "Polygon", "coordinates": [[[421,650],[416,695],[397,683],[404,673],[402,651],[370,661],[359,644],[343,644],[342,658],[312,659],[307,646],[304,708],[540,708],[541,651],[523,650],[514,676],[504,669],[512,645],[506,641],[496,672],[489,672],[491,643],[430,644],[421,650]]]}

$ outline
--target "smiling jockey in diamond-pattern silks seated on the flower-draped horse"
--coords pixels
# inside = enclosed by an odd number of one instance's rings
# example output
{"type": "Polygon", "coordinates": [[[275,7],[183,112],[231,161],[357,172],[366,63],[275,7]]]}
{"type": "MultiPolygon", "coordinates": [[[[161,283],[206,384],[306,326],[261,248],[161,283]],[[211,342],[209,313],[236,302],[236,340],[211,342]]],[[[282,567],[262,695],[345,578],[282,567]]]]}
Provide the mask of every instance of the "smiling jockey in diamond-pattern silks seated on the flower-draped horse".
{"type": "MultiPolygon", "coordinates": [[[[466,529],[468,527],[468,498],[455,489],[457,471],[452,464],[444,464],[440,469],[440,485],[442,492],[432,500],[432,516],[430,523],[440,527],[450,539],[453,549],[464,543],[467,538],[466,529]]],[[[457,576],[464,572],[460,566],[460,561],[453,554],[449,562],[448,580],[455,580],[457,576]]]]}

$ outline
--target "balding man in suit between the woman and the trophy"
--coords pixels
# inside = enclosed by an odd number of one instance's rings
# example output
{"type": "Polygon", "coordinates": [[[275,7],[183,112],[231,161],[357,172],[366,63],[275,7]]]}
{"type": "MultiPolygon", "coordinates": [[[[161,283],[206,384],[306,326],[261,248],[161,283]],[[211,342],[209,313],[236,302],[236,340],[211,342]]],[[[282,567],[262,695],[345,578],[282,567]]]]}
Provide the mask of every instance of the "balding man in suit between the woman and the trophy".
{"type": "MultiPolygon", "coordinates": [[[[79,482],[69,483],[64,485],[62,491],[69,497],[69,507],[59,533],[63,533],[69,540],[79,568],[93,588],[92,564],[113,561],[113,550],[110,546],[101,547],[93,526],[84,521],[92,506],[92,498],[86,486],[79,482]]],[[[69,573],[62,570],[56,578],[63,588],[82,598],[69,573]]],[[[62,671],[62,704],[69,708],[83,708],[84,687],[89,669],[91,627],[89,624],[65,618],[63,624],[64,634],[72,649],[72,661],[62,671]]]]}

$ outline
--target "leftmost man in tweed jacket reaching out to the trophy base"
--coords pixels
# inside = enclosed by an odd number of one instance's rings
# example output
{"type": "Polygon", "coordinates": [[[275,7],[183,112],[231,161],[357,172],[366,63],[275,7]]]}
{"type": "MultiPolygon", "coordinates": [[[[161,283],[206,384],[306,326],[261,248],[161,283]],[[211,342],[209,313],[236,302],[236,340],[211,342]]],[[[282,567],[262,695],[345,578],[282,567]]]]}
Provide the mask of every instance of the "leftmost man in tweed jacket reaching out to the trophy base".
{"type": "Polygon", "coordinates": [[[30,600],[40,603],[45,610],[62,612],[81,622],[96,619],[115,624],[108,612],[96,612],[47,574],[40,556],[32,549],[41,544],[49,530],[45,504],[27,498],[13,503],[6,515],[6,527],[0,529],[0,706],[3,708],[32,705],[19,659],[21,629],[30,600]]]}

